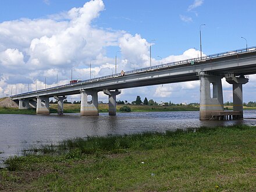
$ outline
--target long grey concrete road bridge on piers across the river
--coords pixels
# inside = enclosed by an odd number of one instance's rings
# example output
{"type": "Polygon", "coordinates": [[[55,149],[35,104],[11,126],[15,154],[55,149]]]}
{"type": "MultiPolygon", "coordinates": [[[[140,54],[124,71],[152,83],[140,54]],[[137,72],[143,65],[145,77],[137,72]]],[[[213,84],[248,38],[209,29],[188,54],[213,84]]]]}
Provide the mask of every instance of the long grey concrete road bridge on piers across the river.
{"type": "Polygon", "coordinates": [[[66,95],[81,94],[80,115],[98,115],[98,92],[109,97],[109,115],[116,115],[116,95],[120,89],[200,80],[200,119],[243,119],[243,84],[247,75],[256,73],[256,47],[208,55],[202,58],[165,63],[110,76],[65,84],[43,90],[11,95],[19,109],[36,108],[37,114],[49,114],[49,98],[58,101],[63,114],[66,95]],[[233,112],[224,112],[221,79],[233,84],[233,112]],[[88,104],[88,95],[92,102],[88,104]]]}

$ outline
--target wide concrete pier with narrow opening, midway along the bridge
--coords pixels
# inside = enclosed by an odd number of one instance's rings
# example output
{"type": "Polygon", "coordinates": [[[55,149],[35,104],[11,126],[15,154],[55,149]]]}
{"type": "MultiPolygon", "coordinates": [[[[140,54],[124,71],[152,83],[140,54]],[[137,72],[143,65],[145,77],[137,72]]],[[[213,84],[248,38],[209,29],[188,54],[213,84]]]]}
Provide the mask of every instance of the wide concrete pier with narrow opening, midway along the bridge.
{"type": "Polygon", "coordinates": [[[97,91],[81,91],[81,116],[97,116],[98,112],[98,92],[97,91]],[[91,104],[88,104],[88,95],[91,95],[91,104]]]}

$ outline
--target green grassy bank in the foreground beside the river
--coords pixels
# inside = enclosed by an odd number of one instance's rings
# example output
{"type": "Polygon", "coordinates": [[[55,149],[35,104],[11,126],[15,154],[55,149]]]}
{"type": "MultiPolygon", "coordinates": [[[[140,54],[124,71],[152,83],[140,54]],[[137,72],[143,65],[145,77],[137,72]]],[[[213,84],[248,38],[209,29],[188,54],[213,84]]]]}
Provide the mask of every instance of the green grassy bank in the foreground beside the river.
{"type": "Polygon", "coordinates": [[[233,126],[66,140],[8,159],[0,190],[256,191],[255,138],[233,126]]]}

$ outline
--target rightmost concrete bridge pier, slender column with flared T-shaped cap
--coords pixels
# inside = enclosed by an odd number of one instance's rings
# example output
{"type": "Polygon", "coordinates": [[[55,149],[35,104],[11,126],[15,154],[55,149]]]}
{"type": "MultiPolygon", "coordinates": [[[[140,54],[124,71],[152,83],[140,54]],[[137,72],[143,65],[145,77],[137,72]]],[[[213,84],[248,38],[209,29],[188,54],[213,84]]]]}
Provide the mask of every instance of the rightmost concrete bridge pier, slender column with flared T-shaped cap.
{"type": "Polygon", "coordinates": [[[229,84],[233,84],[233,111],[240,111],[239,119],[243,119],[243,84],[248,83],[244,76],[226,77],[229,84]]]}

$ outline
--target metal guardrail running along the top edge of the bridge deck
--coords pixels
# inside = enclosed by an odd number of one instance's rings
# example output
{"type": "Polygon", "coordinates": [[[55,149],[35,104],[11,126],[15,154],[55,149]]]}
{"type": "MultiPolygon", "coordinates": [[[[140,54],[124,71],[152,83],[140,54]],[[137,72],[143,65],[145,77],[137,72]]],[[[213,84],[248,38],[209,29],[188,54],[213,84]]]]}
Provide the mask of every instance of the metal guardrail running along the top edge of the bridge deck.
{"type": "MultiPolygon", "coordinates": [[[[162,64],[162,65],[144,67],[144,68],[141,68],[141,69],[131,70],[131,71],[125,72],[125,75],[127,76],[127,74],[129,75],[129,74],[137,74],[137,73],[141,73],[141,72],[150,72],[150,71],[155,70],[155,69],[164,69],[165,67],[169,67],[169,66],[183,65],[183,64],[186,64],[186,63],[194,63],[194,62],[198,62],[198,61],[202,61],[202,60],[213,59],[213,58],[221,58],[223,56],[229,56],[229,55],[240,54],[240,53],[243,53],[243,52],[251,52],[251,51],[256,51],[256,47],[249,47],[249,48],[245,48],[245,49],[237,49],[237,50],[234,50],[234,51],[222,52],[222,53],[219,53],[219,54],[212,54],[212,55],[202,56],[202,59],[201,58],[184,59],[182,61],[175,61],[175,62],[165,63],[165,64],[162,64]]],[[[80,82],[72,83],[72,84],[64,84],[62,86],[45,88],[45,89],[42,89],[42,90],[30,91],[30,92],[27,92],[27,93],[11,95],[10,97],[17,97],[17,96],[27,95],[27,94],[31,94],[31,93],[41,93],[41,92],[44,92],[44,91],[55,90],[55,89],[64,88],[64,87],[77,86],[78,84],[93,83],[95,81],[112,79],[112,78],[116,78],[116,77],[122,77],[121,73],[116,73],[116,74],[112,74],[112,75],[108,75],[108,76],[97,77],[97,78],[94,78],[94,79],[88,79],[88,80],[84,80],[84,81],[80,81],[80,82]]]]}

